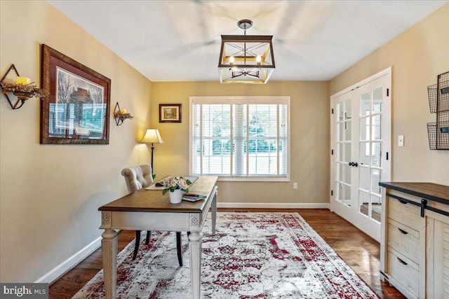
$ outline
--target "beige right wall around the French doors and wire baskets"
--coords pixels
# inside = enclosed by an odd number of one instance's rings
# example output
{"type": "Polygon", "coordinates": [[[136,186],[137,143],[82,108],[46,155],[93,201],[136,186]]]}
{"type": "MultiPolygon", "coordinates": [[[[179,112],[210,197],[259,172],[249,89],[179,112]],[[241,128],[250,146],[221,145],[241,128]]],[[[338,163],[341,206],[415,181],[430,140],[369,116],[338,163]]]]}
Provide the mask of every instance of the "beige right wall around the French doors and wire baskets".
{"type": "Polygon", "coordinates": [[[449,71],[449,4],[330,81],[330,95],[392,67],[392,181],[449,185],[449,151],[430,151],[427,86],[449,71]],[[405,146],[398,147],[398,135],[405,146]]]}

